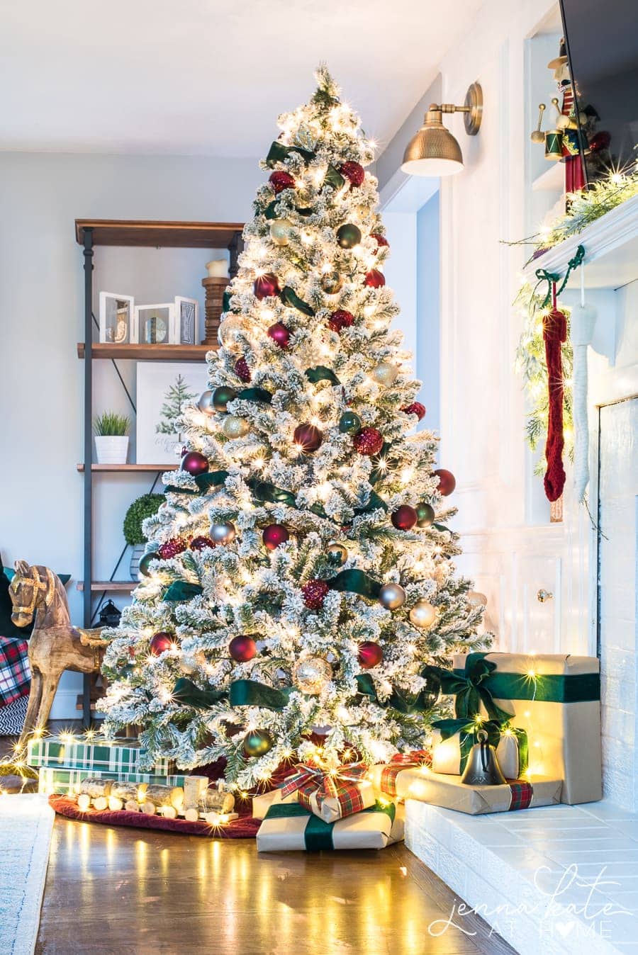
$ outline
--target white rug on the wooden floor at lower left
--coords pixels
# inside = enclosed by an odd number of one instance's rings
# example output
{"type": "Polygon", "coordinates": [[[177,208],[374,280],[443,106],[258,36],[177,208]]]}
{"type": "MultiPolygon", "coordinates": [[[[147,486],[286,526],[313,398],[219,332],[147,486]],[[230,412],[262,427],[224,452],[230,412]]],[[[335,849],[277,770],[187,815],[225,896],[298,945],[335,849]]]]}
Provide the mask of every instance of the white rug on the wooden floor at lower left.
{"type": "Polygon", "coordinates": [[[0,952],[32,955],[55,814],[47,796],[0,796],[0,952]]]}

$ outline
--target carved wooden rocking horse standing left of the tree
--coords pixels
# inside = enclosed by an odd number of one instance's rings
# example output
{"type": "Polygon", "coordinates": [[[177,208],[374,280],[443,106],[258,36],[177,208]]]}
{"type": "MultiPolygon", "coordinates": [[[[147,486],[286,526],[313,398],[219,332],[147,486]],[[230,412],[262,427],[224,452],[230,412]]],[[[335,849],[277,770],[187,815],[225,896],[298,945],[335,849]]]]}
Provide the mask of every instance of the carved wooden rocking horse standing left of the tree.
{"type": "Polygon", "coordinates": [[[39,564],[16,561],[10,594],[16,626],[27,626],[35,617],[29,641],[31,693],[19,746],[26,745],[35,727],[46,727],[53,697],[65,669],[79,673],[99,670],[108,641],[100,629],[83,630],[71,625],[64,584],[39,564]]]}

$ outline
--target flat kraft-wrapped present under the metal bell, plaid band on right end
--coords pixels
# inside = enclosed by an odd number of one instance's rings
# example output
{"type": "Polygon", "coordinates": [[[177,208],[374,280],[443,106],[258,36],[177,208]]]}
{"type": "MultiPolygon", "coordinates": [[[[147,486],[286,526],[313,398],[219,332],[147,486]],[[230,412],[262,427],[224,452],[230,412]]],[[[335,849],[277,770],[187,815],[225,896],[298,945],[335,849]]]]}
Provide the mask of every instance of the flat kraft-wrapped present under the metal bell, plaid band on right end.
{"type": "Polygon", "coordinates": [[[468,786],[460,778],[427,769],[407,770],[401,774],[401,795],[468,816],[552,806],[561,801],[562,779],[528,775],[509,779],[504,786],[468,786]]]}

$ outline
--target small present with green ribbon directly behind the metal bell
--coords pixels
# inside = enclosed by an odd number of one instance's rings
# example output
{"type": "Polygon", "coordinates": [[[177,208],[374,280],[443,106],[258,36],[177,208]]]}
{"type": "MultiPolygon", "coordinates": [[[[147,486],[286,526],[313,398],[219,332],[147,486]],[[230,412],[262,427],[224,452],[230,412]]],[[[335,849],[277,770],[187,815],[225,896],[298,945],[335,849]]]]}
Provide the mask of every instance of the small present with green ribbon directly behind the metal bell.
{"type": "Polygon", "coordinates": [[[506,779],[518,779],[529,765],[527,733],[492,720],[442,719],[432,724],[432,769],[435,773],[462,775],[479,729],[497,751],[506,779]]]}

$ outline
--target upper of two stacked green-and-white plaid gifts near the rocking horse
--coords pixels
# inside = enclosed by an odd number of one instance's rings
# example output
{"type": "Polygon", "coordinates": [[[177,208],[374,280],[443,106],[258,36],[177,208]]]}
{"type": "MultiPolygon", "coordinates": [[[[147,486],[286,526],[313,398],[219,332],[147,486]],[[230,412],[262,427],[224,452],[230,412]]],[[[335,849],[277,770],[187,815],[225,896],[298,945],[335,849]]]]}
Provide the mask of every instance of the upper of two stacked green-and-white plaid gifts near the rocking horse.
{"type": "MultiPolygon", "coordinates": [[[[30,766],[64,767],[108,773],[138,773],[146,751],[137,739],[82,739],[81,736],[45,736],[29,742],[27,762],[30,766]]],[[[154,775],[174,775],[172,759],[158,759],[154,775]]]]}

